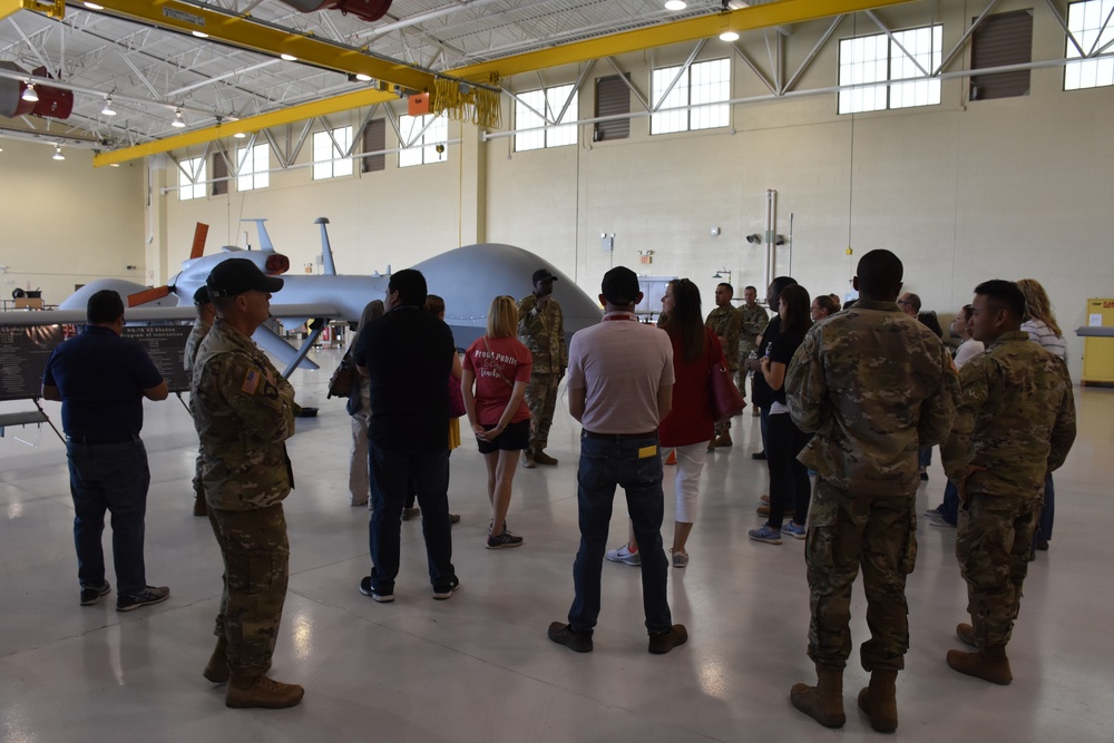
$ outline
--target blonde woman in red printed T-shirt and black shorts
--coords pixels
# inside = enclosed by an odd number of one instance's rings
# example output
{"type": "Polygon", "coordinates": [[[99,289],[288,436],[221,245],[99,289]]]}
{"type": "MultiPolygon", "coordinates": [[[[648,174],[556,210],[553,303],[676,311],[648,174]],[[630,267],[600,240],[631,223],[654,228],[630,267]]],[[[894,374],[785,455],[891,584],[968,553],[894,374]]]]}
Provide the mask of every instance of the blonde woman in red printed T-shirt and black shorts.
{"type": "Polygon", "coordinates": [[[507,510],[519,452],[530,443],[530,409],[525,398],[534,360],[529,349],[518,342],[517,331],[515,299],[495,297],[488,310],[487,334],[465,352],[460,380],[468,422],[488,468],[488,549],[522,544],[521,537],[507,530],[507,510]]]}

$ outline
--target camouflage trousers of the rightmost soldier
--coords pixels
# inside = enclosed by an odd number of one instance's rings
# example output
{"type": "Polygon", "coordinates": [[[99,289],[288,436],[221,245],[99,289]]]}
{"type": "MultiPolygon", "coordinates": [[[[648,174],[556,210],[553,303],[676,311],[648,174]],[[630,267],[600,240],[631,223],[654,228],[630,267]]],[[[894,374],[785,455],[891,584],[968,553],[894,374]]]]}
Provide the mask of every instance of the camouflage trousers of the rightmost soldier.
{"type": "Polygon", "coordinates": [[[1009,642],[1040,505],[1037,498],[971,493],[959,509],[956,557],[979,647],[1009,642]]]}

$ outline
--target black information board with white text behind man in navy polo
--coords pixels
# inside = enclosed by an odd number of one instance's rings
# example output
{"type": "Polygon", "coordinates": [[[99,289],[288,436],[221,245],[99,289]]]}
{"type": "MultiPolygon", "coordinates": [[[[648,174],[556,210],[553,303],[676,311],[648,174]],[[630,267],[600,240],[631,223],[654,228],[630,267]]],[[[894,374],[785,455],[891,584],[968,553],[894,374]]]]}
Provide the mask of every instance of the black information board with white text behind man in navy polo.
{"type": "MultiPolygon", "coordinates": [[[[182,360],[189,330],[189,325],[128,325],[124,338],[147,351],[170,392],[185,392],[189,390],[189,375],[182,360]]],[[[51,352],[74,333],[72,325],[0,325],[0,400],[40,397],[42,372],[51,352]]]]}

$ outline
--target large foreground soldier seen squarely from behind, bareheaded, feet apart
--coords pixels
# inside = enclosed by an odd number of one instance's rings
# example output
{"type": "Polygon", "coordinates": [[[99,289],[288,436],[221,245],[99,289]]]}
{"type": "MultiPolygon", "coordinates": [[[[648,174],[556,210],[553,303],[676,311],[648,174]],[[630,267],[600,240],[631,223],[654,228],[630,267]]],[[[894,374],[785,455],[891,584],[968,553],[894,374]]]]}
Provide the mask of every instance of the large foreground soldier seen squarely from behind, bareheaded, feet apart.
{"type": "Polygon", "coordinates": [[[805,542],[815,686],[797,684],[793,705],[839,727],[843,668],[851,653],[851,586],[862,568],[870,685],[859,706],[877,731],[898,725],[895,682],[909,647],[906,576],[917,556],[917,448],[951,429],[957,375],[931,331],[895,300],[901,261],[871,251],[859,262],[854,309],[813,325],[789,366],[793,422],[815,436],[800,460],[819,483],[805,542]]]}

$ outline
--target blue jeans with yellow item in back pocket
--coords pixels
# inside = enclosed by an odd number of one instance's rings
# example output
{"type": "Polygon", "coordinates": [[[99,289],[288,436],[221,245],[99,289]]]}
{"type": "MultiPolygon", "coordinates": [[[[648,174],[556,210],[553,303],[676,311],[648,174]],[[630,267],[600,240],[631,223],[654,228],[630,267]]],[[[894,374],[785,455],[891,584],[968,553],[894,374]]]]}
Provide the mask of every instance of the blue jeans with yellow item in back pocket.
{"type": "Polygon", "coordinates": [[[668,560],[662,548],[662,457],[657,436],[638,439],[580,437],[576,473],[580,549],[573,564],[576,597],[568,610],[574,632],[590,633],[599,617],[599,575],[607,551],[607,527],[616,486],[626,491],[627,511],[642,556],[642,603],[652,635],[673,627],[665,593],[668,560]],[[639,456],[639,450],[643,456],[639,456]]]}

